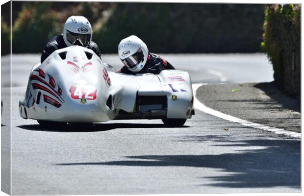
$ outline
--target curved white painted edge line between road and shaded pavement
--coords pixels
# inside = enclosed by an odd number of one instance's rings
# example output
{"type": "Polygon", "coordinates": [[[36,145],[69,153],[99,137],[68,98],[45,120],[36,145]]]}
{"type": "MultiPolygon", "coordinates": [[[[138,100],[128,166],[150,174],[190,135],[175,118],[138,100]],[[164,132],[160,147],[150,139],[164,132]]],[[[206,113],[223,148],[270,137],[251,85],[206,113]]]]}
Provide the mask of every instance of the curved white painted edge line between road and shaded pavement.
{"type": "Polygon", "coordinates": [[[242,124],[244,126],[250,126],[250,127],[253,127],[253,128],[257,128],[257,129],[271,131],[271,132],[274,132],[276,134],[287,135],[287,136],[291,136],[291,137],[295,137],[295,138],[300,138],[301,139],[301,133],[286,131],[284,129],[279,129],[279,128],[275,128],[275,127],[271,127],[271,126],[266,126],[266,125],[259,124],[259,123],[252,123],[252,122],[249,122],[249,121],[245,121],[245,120],[238,119],[236,117],[224,114],[222,112],[219,112],[217,110],[214,110],[214,109],[211,109],[211,108],[205,106],[203,103],[201,103],[196,98],[196,91],[202,85],[204,85],[204,84],[192,84],[193,97],[194,97],[194,107],[196,109],[198,109],[198,110],[200,110],[200,111],[202,111],[204,113],[216,116],[218,118],[225,119],[227,121],[233,122],[233,123],[239,123],[239,124],[242,124]]]}

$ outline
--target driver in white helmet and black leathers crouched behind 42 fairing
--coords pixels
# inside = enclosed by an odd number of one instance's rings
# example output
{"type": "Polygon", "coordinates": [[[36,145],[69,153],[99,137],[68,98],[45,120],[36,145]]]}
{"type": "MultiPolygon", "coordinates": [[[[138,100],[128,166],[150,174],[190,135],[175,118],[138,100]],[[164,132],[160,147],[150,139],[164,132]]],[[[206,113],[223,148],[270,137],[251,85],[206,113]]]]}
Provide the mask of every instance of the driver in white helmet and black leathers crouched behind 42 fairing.
{"type": "Polygon", "coordinates": [[[92,41],[92,26],[83,16],[71,16],[68,18],[60,35],[52,38],[41,55],[41,63],[56,49],[63,49],[73,44],[82,45],[85,48],[92,49],[99,57],[101,52],[95,42],[92,41]],[[76,40],[78,40],[76,42],[76,40]]]}

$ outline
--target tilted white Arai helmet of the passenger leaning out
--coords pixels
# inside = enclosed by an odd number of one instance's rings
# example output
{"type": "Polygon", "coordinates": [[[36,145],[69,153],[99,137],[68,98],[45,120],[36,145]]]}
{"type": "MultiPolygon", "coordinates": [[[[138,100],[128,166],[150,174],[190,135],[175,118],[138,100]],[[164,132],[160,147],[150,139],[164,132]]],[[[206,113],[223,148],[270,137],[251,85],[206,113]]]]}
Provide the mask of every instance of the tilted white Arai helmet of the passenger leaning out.
{"type": "Polygon", "coordinates": [[[118,45],[120,60],[133,73],[143,69],[148,59],[148,52],[147,45],[135,35],[123,39],[118,45]]]}

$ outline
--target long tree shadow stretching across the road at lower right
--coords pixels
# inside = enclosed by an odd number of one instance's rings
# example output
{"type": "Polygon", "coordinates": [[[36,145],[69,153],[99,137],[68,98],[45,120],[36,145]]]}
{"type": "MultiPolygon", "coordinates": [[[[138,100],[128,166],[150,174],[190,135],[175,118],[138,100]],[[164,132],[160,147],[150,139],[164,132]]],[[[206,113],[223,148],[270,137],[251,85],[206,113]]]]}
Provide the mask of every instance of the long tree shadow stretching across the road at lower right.
{"type": "Polygon", "coordinates": [[[121,161],[60,163],[57,166],[111,165],[130,167],[196,167],[220,169],[223,175],[204,177],[215,187],[252,188],[285,186],[301,188],[300,140],[242,140],[227,139],[227,135],[187,136],[178,142],[221,143],[215,146],[249,147],[235,153],[216,155],[145,155],[126,156],[121,161]],[[226,138],[225,140],[223,138],[226,138]],[[224,140],[224,142],[223,142],[224,140]],[[225,144],[228,142],[228,144],[225,144]],[[229,173],[225,173],[229,172],[229,173]]]}

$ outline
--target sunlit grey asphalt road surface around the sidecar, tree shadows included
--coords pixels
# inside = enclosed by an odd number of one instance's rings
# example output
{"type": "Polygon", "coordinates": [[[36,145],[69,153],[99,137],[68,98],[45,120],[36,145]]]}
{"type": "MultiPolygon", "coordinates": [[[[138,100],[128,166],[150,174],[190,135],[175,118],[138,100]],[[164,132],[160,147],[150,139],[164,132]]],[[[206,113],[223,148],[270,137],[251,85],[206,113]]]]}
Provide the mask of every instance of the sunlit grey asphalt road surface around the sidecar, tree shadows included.
{"type": "MultiPolygon", "coordinates": [[[[193,82],[273,80],[262,54],[164,56],[177,69],[188,70],[193,82]]],[[[13,56],[11,132],[10,88],[5,87],[9,69],[3,66],[8,58],[1,60],[1,141],[9,146],[3,135],[11,133],[12,195],[301,191],[300,139],[200,111],[181,128],[166,128],[160,120],[132,120],[46,129],[24,120],[18,100],[37,59],[13,56]]],[[[115,56],[103,59],[120,65],[115,56]]],[[[5,150],[2,160],[9,159],[5,150]]],[[[7,162],[2,175],[5,169],[7,162]]]]}

